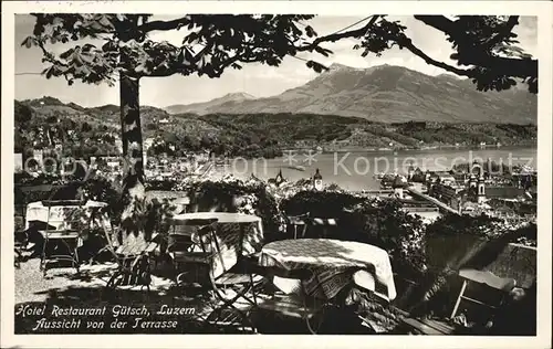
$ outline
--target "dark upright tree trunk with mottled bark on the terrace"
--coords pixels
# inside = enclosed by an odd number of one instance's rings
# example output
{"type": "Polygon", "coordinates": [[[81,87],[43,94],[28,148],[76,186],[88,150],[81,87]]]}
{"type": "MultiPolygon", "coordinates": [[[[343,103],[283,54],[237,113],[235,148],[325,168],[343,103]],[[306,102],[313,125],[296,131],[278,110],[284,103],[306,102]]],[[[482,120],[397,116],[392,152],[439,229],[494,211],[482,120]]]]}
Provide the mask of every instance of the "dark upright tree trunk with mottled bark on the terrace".
{"type": "Polygon", "coordinates": [[[140,128],[138,78],[119,77],[121,128],[123,142],[123,244],[144,245],[145,231],[139,224],[145,199],[143,138],[140,128]]]}

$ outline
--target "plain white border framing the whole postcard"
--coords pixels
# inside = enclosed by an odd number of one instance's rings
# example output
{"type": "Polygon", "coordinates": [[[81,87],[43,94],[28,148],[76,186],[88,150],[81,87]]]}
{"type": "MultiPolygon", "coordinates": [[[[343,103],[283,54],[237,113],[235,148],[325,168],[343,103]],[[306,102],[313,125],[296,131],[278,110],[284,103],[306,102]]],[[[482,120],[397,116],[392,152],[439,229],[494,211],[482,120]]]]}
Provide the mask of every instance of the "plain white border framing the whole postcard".
{"type": "MultiPolygon", "coordinates": [[[[552,2],[549,1],[82,1],[2,2],[2,231],[0,347],[39,348],[217,348],[222,347],[353,347],[372,348],[549,348],[551,345],[551,202],[552,202],[552,2]],[[159,6],[163,3],[163,7],[159,6]],[[293,7],[292,7],[293,4],[293,7]],[[159,9],[167,9],[160,11],[159,9]],[[179,11],[181,9],[181,11],[179,11]],[[14,18],[29,12],[188,13],[317,13],[327,15],[387,14],[520,14],[539,17],[539,266],[536,337],[453,336],[198,336],[198,335],[20,335],[13,334],[13,91],[14,18]]],[[[524,319],[521,319],[524,321],[524,319]]]]}

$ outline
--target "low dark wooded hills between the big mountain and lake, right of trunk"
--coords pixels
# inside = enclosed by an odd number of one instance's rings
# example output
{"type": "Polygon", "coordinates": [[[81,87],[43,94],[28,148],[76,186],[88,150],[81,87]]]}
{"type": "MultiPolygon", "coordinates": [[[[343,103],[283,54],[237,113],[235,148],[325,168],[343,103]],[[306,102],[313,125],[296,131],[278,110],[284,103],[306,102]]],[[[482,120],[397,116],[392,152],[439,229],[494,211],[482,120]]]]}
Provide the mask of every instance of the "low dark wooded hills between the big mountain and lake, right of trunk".
{"type": "Polygon", "coordinates": [[[200,119],[243,141],[261,139],[281,149],[323,147],[326,150],[474,147],[481,142],[535,146],[538,127],[515,124],[374,123],[355,117],[315,114],[210,114],[200,119]],[[275,131],[278,130],[278,131],[275,131]]]}

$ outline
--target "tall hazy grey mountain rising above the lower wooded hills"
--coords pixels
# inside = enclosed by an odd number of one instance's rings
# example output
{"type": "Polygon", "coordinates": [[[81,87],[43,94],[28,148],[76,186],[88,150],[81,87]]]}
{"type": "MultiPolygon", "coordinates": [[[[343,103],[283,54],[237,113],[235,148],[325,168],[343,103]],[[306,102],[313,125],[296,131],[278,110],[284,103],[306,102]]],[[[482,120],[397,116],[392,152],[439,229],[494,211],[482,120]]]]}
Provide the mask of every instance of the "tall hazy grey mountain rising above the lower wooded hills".
{"type": "Polygon", "coordinates": [[[361,117],[382,123],[535,124],[538,97],[526,91],[478,92],[468,80],[429,76],[401,66],[366,70],[333,64],[305,85],[269,98],[225,97],[165,108],[169,113],[293,113],[361,117]]]}

